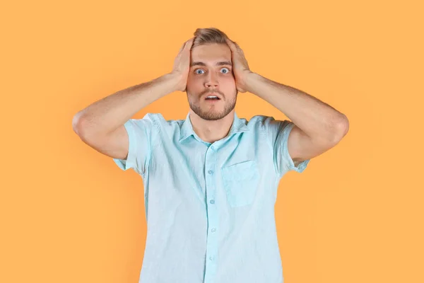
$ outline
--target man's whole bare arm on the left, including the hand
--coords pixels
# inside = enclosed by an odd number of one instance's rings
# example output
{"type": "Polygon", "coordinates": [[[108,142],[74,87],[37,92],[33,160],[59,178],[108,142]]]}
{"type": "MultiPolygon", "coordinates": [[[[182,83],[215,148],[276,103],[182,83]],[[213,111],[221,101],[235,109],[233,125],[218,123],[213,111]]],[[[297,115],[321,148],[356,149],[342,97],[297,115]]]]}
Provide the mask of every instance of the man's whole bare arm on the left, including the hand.
{"type": "Polygon", "coordinates": [[[125,88],[74,115],[72,127],[86,144],[114,158],[126,158],[129,139],[124,124],[142,108],[174,91],[185,91],[193,38],[184,42],[169,74],[125,88]]]}

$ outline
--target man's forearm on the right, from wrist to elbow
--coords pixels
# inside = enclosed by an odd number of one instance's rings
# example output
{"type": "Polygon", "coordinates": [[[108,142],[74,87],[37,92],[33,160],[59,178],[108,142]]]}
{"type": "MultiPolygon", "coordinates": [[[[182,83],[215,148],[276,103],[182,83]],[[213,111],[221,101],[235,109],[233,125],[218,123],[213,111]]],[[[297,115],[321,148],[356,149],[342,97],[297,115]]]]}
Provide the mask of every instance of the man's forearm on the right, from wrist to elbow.
{"type": "Polygon", "coordinates": [[[296,88],[251,73],[247,91],[263,98],[283,112],[310,137],[337,139],[346,131],[347,118],[343,113],[321,100],[296,88]]]}

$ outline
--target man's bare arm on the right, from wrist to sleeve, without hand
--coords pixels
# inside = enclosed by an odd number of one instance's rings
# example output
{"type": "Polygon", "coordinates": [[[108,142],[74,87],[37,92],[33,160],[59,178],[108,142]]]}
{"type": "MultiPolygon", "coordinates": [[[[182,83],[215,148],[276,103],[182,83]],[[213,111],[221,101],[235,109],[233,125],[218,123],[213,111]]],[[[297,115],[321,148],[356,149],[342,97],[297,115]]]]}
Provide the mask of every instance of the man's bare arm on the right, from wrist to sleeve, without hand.
{"type": "Polygon", "coordinates": [[[264,98],[295,124],[288,137],[288,151],[293,161],[323,154],[348,132],[346,115],[314,96],[256,73],[251,73],[247,85],[250,92],[264,98]]]}

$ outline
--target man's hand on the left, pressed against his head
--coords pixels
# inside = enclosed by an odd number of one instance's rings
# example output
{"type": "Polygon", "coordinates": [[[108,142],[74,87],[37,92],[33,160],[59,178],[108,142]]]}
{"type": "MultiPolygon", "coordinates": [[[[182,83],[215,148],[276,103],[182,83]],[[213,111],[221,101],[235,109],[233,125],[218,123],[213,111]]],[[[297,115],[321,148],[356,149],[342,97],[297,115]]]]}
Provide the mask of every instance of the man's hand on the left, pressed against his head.
{"type": "Polygon", "coordinates": [[[187,78],[190,69],[190,50],[192,48],[194,37],[190,38],[179,49],[179,53],[174,61],[174,67],[171,74],[178,78],[177,91],[187,90],[187,78]]]}

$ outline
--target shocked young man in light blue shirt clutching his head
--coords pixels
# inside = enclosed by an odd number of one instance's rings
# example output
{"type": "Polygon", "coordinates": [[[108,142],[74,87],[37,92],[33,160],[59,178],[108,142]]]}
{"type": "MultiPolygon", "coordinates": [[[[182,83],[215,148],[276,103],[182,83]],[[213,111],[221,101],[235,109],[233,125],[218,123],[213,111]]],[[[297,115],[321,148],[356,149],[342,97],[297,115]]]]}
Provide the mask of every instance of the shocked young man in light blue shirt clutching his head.
{"type": "Polygon", "coordinates": [[[240,47],[216,28],[197,29],[172,72],[81,110],[73,129],[119,168],[143,178],[148,224],[140,282],[283,282],[274,204],[288,171],[348,132],[326,103],[249,69],[240,47]],[[185,120],[131,117],[187,91],[185,120]],[[237,92],[254,93],[290,120],[237,117],[237,92]]]}

